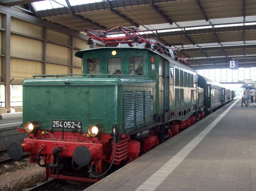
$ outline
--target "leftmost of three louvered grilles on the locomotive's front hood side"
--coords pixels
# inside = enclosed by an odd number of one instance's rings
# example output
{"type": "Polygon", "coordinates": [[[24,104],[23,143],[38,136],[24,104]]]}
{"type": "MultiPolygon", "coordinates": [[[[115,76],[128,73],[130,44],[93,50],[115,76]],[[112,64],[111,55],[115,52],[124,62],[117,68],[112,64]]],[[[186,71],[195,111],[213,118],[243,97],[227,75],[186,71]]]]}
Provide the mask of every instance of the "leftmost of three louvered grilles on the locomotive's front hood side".
{"type": "Polygon", "coordinates": [[[134,95],[133,92],[125,92],[124,97],[124,127],[125,129],[134,127],[134,95]]]}

